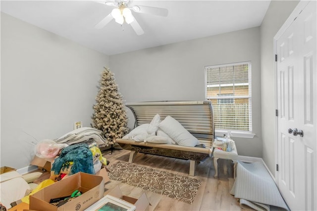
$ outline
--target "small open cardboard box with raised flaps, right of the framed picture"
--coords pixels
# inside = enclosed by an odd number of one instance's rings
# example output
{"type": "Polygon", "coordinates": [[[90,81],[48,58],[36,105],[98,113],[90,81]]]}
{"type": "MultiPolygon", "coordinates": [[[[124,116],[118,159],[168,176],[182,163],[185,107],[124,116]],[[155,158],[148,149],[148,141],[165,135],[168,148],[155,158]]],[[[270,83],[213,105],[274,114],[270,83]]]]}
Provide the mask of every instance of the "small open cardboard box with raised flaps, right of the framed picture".
{"type": "Polygon", "coordinates": [[[137,211],[149,211],[150,210],[150,202],[148,200],[147,195],[143,192],[143,194],[139,197],[139,199],[135,199],[129,196],[124,196],[120,190],[119,186],[113,188],[108,195],[122,199],[136,207],[137,211]]]}

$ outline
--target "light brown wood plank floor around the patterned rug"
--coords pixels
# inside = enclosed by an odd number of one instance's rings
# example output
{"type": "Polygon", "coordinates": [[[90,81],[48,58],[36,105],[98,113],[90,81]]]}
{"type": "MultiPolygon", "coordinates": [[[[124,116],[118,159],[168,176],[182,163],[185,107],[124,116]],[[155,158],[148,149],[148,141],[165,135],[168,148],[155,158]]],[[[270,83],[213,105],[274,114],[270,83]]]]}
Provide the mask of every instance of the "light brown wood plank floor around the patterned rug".
{"type": "MultiPolygon", "coordinates": [[[[130,151],[110,150],[103,151],[103,156],[110,161],[109,165],[116,161],[129,160],[130,151]]],[[[159,170],[173,172],[188,176],[189,160],[166,158],[154,155],[138,154],[134,160],[137,165],[153,167],[159,170]]],[[[46,172],[36,183],[49,177],[46,172]]],[[[143,192],[146,193],[151,206],[150,211],[241,211],[239,202],[229,194],[233,179],[233,163],[229,160],[218,159],[218,178],[214,178],[214,167],[212,158],[200,162],[195,171],[195,178],[201,179],[199,188],[192,205],[171,199],[160,194],[145,191],[127,184],[110,180],[105,185],[105,195],[115,186],[119,186],[122,194],[133,198],[139,198],[143,192]]]]}

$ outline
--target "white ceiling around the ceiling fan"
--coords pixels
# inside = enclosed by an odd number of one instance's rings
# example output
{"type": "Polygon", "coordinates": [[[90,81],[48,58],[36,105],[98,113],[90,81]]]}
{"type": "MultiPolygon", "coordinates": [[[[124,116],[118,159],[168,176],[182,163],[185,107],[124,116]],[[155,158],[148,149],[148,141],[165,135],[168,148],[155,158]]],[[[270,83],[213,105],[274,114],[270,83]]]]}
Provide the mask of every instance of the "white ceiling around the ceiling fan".
{"type": "Polygon", "coordinates": [[[107,55],[146,49],[260,26],[269,0],[133,0],[168,9],[167,17],[133,12],[144,30],[111,20],[94,26],[114,7],[86,0],[1,0],[2,12],[107,55]]]}

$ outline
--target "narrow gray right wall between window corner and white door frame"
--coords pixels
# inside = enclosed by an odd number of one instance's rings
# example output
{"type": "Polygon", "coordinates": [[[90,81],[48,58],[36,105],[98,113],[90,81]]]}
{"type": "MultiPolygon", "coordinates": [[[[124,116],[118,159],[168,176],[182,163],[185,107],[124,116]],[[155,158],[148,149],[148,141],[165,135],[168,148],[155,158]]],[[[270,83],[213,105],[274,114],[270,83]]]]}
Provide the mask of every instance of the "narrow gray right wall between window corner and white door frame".
{"type": "Polygon", "coordinates": [[[275,173],[275,72],[273,37],[299,1],[271,1],[261,24],[261,101],[263,160],[275,173]]]}

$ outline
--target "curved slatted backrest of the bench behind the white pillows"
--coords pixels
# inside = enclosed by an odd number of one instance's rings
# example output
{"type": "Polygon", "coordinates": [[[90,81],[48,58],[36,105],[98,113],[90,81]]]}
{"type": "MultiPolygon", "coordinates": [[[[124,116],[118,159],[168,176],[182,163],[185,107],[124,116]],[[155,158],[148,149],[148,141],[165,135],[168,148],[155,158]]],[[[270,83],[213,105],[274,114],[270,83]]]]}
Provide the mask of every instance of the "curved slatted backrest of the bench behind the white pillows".
{"type": "Polygon", "coordinates": [[[134,115],[134,127],[150,123],[157,113],[161,120],[170,115],[206,147],[211,147],[214,138],[211,101],[140,102],[127,103],[126,106],[134,115]]]}

